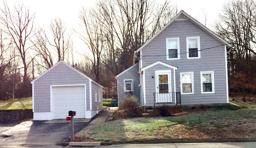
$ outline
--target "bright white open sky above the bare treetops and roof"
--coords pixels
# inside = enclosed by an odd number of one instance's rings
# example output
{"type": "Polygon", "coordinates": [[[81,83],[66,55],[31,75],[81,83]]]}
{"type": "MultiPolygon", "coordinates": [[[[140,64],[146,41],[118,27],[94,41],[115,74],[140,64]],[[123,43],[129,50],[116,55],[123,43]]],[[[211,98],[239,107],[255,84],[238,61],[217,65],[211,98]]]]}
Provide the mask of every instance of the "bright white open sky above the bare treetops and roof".
{"type": "MultiPolygon", "coordinates": [[[[1,0],[2,1],[2,0],[1,0]]],[[[93,7],[98,0],[22,0],[28,6],[30,13],[36,13],[35,25],[47,28],[50,20],[56,16],[68,25],[69,28],[76,28],[78,13],[82,7],[93,7]]],[[[21,0],[7,0],[8,4],[22,2],[21,0]]],[[[157,0],[163,2],[164,0],[157,0]]],[[[178,12],[184,10],[187,14],[204,24],[203,12],[207,13],[206,26],[211,29],[211,25],[221,13],[222,6],[228,0],[171,0],[172,4],[178,6],[178,12]]],[[[2,2],[0,3],[1,6],[2,2]]],[[[73,33],[74,34],[74,33],[73,33]]],[[[79,41],[78,37],[72,37],[74,49],[79,51],[86,48],[86,45],[79,41]]]]}

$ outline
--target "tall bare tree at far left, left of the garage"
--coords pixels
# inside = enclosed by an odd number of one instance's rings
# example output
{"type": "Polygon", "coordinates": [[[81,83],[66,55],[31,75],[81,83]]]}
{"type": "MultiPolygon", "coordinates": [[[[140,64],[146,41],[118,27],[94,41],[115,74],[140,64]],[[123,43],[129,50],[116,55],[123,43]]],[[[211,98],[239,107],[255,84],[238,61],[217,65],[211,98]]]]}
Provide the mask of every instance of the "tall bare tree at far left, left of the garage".
{"type": "Polygon", "coordinates": [[[31,60],[28,59],[28,49],[30,49],[27,41],[32,36],[32,29],[35,14],[30,14],[29,9],[23,5],[14,6],[14,10],[10,10],[6,1],[3,2],[3,8],[0,8],[0,20],[3,25],[4,33],[7,33],[12,39],[15,49],[18,50],[23,65],[23,88],[24,96],[31,93],[30,80],[27,74],[28,65],[31,60]]]}

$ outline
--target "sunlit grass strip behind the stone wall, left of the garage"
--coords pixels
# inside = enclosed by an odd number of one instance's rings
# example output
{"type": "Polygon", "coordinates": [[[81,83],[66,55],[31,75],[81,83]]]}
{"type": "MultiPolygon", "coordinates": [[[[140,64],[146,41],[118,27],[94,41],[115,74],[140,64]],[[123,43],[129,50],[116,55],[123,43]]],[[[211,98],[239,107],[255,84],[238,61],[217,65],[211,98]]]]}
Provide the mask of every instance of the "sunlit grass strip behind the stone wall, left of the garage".
{"type": "Polygon", "coordinates": [[[6,109],[32,109],[32,97],[0,101],[0,110],[6,109]]]}

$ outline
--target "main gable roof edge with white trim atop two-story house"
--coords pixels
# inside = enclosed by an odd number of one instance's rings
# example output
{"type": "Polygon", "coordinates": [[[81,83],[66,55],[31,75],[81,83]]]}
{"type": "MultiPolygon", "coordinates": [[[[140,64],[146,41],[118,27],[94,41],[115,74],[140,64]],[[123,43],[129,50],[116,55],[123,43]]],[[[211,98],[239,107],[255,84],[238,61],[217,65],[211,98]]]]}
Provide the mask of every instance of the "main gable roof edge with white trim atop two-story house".
{"type": "Polygon", "coordinates": [[[156,38],[160,33],[162,33],[162,31],[164,31],[169,25],[171,25],[174,21],[176,20],[184,20],[184,19],[188,19],[190,20],[192,23],[194,23],[195,25],[197,25],[198,27],[200,27],[201,29],[203,29],[204,31],[206,31],[208,34],[210,34],[212,37],[214,37],[215,39],[217,39],[218,41],[220,41],[222,44],[227,45],[227,49],[229,49],[230,47],[232,47],[232,45],[230,43],[228,43],[227,41],[225,41],[224,39],[222,39],[220,36],[218,36],[216,33],[214,33],[213,31],[211,31],[210,29],[208,29],[206,26],[204,26],[202,23],[200,23],[199,21],[197,21],[196,19],[192,18],[190,15],[188,15],[186,12],[184,12],[183,10],[181,10],[171,21],[169,21],[162,29],[160,29],[153,37],[151,37],[148,41],[146,41],[146,43],[144,43],[138,50],[134,51],[134,62],[136,61],[136,57],[139,54],[139,51],[142,50],[146,45],[148,45],[148,43],[150,43],[154,38],[156,38]]]}

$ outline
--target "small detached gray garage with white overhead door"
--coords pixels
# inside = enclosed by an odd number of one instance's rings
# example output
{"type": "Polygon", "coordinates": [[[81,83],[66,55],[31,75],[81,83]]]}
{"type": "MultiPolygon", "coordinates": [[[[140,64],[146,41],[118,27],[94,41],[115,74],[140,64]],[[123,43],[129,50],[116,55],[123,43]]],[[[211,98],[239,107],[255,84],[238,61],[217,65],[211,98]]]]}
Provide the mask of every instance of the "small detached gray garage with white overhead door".
{"type": "Polygon", "coordinates": [[[94,117],[102,110],[100,84],[63,61],[31,81],[34,120],[94,117]]]}

